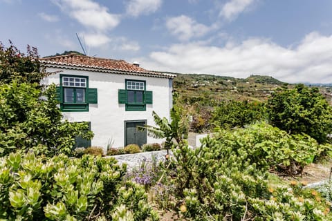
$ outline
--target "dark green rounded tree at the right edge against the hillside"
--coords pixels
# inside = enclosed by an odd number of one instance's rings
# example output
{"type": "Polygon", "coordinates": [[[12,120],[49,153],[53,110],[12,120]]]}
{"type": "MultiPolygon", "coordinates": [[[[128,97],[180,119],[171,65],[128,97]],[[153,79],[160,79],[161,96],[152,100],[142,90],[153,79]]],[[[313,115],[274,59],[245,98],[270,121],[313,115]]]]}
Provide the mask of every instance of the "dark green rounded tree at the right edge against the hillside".
{"type": "Polygon", "coordinates": [[[267,108],[270,124],[288,133],[306,133],[323,143],[332,132],[332,108],[317,88],[282,88],[268,99],[267,108]]]}

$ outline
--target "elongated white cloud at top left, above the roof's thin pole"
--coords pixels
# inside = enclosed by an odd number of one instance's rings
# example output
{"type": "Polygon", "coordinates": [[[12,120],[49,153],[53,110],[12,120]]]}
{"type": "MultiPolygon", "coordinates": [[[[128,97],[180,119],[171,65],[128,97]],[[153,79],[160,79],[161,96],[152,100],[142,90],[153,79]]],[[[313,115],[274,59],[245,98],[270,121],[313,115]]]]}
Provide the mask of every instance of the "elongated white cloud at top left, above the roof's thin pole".
{"type": "Polygon", "coordinates": [[[92,0],[52,0],[59,8],[82,23],[86,28],[106,31],[120,23],[120,16],[109,13],[108,8],[92,0]]]}

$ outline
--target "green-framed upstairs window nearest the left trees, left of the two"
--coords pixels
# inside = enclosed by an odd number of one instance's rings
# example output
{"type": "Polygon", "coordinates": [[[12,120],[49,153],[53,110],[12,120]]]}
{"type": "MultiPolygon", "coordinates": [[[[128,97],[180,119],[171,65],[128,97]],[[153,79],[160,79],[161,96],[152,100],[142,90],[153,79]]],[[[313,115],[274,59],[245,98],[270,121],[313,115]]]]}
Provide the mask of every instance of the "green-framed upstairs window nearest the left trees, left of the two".
{"type": "Polygon", "coordinates": [[[89,77],[60,75],[56,91],[60,108],[65,112],[89,111],[89,104],[98,103],[97,88],[89,88],[89,77]]]}

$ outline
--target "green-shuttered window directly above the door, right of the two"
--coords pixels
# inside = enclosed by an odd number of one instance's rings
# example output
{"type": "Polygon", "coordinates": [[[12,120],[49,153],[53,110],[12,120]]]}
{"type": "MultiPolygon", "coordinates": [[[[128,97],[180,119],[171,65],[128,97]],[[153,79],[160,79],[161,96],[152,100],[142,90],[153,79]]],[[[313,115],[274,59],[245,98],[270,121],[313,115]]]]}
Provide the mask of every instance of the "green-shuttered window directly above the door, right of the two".
{"type": "Polygon", "coordinates": [[[152,104],[152,91],[145,90],[145,81],[126,80],[126,89],[118,90],[119,104],[126,104],[126,111],[145,111],[152,104]]]}

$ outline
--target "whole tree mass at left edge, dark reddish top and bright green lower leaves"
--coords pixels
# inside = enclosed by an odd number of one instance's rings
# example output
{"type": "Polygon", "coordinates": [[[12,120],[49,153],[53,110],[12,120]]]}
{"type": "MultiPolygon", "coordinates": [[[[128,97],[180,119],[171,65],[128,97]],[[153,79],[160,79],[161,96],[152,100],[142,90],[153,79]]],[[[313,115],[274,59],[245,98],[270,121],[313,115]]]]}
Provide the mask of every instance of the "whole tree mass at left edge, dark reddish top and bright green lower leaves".
{"type": "Polygon", "coordinates": [[[91,139],[84,123],[62,120],[55,85],[39,81],[47,75],[38,68],[37,50],[24,55],[15,46],[0,47],[0,156],[15,149],[44,155],[71,153],[75,137],[91,139]]]}

